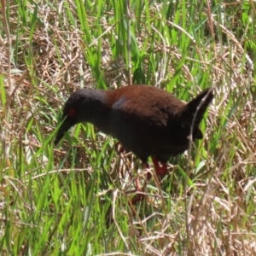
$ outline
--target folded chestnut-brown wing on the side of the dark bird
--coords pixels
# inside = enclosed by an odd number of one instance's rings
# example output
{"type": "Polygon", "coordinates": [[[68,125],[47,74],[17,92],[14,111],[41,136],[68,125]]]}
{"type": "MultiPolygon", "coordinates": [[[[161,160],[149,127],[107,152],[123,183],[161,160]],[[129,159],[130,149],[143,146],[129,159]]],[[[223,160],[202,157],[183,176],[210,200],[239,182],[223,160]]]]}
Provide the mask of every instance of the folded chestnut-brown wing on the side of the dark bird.
{"type": "Polygon", "coordinates": [[[121,132],[122,137],[125,137],[124,132],[131,139],[136,137],[145,147],[168,147],[170,119],[174,118],[175,109],[185,103],[165,90],[154,87],[148,90],[148,86],[137,85],[127,87],[112,104],[117,132],[121,132]]]}

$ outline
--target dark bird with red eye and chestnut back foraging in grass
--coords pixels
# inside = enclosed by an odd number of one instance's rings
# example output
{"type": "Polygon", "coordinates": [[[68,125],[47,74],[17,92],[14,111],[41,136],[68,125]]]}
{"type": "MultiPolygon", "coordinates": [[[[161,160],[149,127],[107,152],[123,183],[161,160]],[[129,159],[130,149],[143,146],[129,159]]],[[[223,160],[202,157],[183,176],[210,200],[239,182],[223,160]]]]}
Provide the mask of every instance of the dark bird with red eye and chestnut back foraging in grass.
{"type": "Polygon", "coordinates": [[[148,85],[77,90],[64,105],[65,120],[55,144],[73,125],[89,122],[117,138],[144,165],[150,156],[155,172],[163,175],[167,160],[189,148],[191,131],[193,141],[203,137],[199,125],[212,98],[212,89],[207,89],[184,103],[166,90],[148,85]]]}

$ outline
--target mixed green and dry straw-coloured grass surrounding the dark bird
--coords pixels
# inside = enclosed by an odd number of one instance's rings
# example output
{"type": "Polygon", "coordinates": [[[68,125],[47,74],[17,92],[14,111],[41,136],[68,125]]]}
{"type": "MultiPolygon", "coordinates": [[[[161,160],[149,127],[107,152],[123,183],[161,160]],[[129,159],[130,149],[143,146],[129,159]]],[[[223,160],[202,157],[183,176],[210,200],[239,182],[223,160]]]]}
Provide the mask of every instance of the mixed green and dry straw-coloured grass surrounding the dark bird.
{"type": "Polygon", "coordinates": [[[253,2],[5,4],[1,255],[256,253],[253,2]],[[133,183],[145,171],[117,154],[113,138],[84,124],[53,145],[73,90],[131,83],[183,101],[215,88],[204,140],[171,159],[170,173],[147,183],[148,200],[137,205],[133,183]]]}

